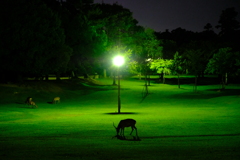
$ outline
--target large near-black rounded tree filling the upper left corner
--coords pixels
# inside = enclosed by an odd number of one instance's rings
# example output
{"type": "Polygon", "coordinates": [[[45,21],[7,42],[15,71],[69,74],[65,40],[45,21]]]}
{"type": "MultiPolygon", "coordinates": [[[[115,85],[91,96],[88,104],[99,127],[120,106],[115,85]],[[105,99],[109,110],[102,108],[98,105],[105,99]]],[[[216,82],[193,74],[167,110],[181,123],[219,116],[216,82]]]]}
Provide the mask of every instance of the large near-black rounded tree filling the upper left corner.
{"type": "Polygon", "coordinates": [[[64,72],[71,49],[57,14],[41,0],[9,0],[1,7],[0,61],[7,80],[64,72]]]}

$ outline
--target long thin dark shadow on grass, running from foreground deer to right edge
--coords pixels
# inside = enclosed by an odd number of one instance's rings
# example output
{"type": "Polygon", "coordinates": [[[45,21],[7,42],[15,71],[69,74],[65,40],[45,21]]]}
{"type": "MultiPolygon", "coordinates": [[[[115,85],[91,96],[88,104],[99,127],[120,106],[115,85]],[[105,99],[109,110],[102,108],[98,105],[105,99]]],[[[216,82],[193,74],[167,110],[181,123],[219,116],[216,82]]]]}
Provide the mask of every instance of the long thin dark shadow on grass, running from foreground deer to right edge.
{"type": "Polygon", "coordinates": [[[236,133],[236,134],[210,134],[210,135],[153,136],[153,137],[142,137],[142,138],[143,139],[159,139],[159,138],[232,137],[232,136],[240,136],[240,133],[236,133]]]}

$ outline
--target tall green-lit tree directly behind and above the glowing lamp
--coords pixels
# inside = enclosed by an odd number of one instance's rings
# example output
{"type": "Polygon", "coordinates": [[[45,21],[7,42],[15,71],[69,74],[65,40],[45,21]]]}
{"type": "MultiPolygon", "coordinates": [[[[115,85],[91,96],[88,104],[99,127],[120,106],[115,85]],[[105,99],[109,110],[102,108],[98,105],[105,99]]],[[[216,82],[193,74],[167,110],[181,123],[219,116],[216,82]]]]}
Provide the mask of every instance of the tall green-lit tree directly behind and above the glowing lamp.
{"type": "Polygon", "coordinates": [[[132,17],[130,10],[117,3],[95,4],[89,11],[88,17],[92,28],[97,32],[103,31],[104,44],[99,52],[100,66],[106,73],[112,69],[112,57],[119,52],[124,54],[132,50],[132,37],[135,33],[137,21],[132,17]],[[118,51],[116,51],[118,49],[118,51]]]}

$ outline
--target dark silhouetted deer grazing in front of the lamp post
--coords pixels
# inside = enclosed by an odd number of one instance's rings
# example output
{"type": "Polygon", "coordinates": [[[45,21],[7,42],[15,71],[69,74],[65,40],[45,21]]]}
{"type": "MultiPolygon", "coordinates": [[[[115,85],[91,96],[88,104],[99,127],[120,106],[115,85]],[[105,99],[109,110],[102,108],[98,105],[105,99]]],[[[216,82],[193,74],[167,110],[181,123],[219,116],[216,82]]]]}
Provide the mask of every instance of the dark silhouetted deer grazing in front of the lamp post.
{"type": "MultiPolygon", "coordinates": [[[[135,129],[136,130],[136,136],[137,136],[137,127],[135,126],[135,124],[136,124],[136,121],[134,119],[121,120],[117,127],[113,123],[113,126],[115,127],[115,129],[117,131],[116,137],[119,136],[119,135],[124,137],[124,128],[125,127],[131,127],[132,132],[135,129]]],[[[132,132],[130,133],[130,135],[132,135],[132,132]]]]}

